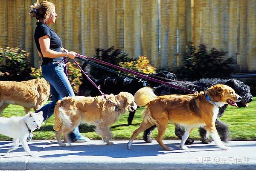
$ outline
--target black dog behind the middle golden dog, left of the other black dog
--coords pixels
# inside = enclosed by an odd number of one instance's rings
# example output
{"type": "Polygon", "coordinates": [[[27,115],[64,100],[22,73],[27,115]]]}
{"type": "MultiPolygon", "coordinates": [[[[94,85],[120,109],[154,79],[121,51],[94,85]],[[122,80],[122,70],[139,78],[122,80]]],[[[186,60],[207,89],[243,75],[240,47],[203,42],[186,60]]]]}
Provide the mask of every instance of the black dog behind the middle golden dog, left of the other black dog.
{"type": "MultiPolygon", "coordinates": [[[[129,92],[134,95],[137,90],[139,90],[140,88],[143,88],[145,86],[143,82],[132,79],[132,78],[128,78],[128,77],[107,77],[102,80],[97,80],[97,79],[94,79],[92,75],[90,75],[90,67],[87,67],[87,68],[86,67],[87,66],[82,67],[83,70],[89,75],[89,77],[93,80],[93,82],[96,85],[100,85],[100,90],[104,94],[112,93],[112,94],[116,95],[116,94],[119,94],[121,91],[125,91],[125,92],[129,92]]],[[[168,72],[168,71],[160,71],[160,72],[156,72],[152,75],[157,76],[156,78],[154,77],[155,79],[162,80],[165,82],[166,82],[166,80],[161,79],[160,77],[171,79],[171,80],[176,80],[175,74],[168,72]]],[[[149,75],[149,77],[151,77],[151,76],[149,75]]],[[[155,86],[160,85],[159,83],[156,83],[151,80],[145,80],[145,81],[146,81],[146,85],[149,87],[155,87],[155,86]]],[[[99,90],[97,88],[95,88],[91,83],[89,83],[86,77],[83,78],[82,82],[83,83],[79,87],[80,90],[81,89],[89,89],[90,94],[88,94],[88,95],[91,97],[96,97],[96,96],[101,95],[99,90]]],[[[131,122],[134,118],[135,111],[136,110],[130,111],[129,117],[128,117],[128,125],[131,125],[131,122]]]]}

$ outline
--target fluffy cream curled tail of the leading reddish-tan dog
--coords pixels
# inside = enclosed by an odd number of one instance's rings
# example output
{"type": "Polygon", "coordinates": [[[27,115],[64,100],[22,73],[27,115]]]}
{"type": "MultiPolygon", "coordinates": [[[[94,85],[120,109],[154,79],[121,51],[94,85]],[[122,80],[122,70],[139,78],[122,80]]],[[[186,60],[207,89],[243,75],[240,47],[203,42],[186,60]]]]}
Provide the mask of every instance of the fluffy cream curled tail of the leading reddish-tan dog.
{"type": "Polygon", "coordinates": [[[154,91],[150,87],[140,88],[135,94],[135,103],[137,106],[144,106],[148,104],[150,101],[155,100],[157,95],[154,94],[154,91]]]}

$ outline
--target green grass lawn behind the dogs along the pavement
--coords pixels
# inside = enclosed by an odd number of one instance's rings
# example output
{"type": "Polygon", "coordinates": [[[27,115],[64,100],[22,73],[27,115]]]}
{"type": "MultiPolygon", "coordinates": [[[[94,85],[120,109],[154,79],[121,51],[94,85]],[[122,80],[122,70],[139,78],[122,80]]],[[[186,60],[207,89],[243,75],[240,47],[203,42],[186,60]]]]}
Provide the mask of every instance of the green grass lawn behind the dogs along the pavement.
{"type": "MultiPolygon", "coordinates": [[[[142,121],[141,112],[144,108],[139,108],[134,116],[132,125],[127,124],[128,112],[125,115],[120,115],[119,120],[111,126],[113,133],[112,140],[128,140],[132,132],[140,126],[142,121]]],[[[253,98],[253,102],[249,103],[247,108],[235,108],[229,106],[224,113],[224,116],[221,117],[221,120],[226,122],[230,128],[230,137],[232,140],[256,140],[256,97],[253,98]]],[[[9,105],[3,113],[2,117],[11,117],[11,116],[23,116],[25,111],[23,107],[18,105],[9,105]]],[[[33,140],[56,140],[55,131],[52,126],[54,125],[54,115],[47,120],[46,126],[44,128],[44,123],[40,130],[34,131],[33,140]],[[43,131],[42,128],[44,128],[43,131]],[[41,132],[40,132],[41,131],[41,132]],[[40,132],[40,133],[39,133],[40,132]]],[[[93,131],[93,126],[80,125],[80,132],[86,137],[89,137],[91,140],[101,140],[101,137],[93,131]]],[[[175,126],[169,123],[168,128],[166,129],[164,140],[177,140],[177,137],[174,133],[175,126]]],[[[143,133],[137,136],[137,140],[142,140],[143,133]]],[[[157,129],[154,130],[152,138],[157,137],[157,129]]],[[[198,128],[195,128],[191,134],[192,138],[196,140],[200,139],[198,134],[198,128]]],[[[0,135],[0,140],[12,140],[9,137],[0,135]]]]}

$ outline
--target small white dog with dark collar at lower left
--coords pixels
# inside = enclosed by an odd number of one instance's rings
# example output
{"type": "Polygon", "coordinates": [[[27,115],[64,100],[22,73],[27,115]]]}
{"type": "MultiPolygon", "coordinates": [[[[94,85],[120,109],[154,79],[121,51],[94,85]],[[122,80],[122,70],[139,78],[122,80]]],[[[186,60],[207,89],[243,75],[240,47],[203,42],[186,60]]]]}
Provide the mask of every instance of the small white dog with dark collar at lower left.
{"type": "Polygon", "coordinates": [[[20,141],[24,150],[30,156],[33,156],[26,139],[29,133],[41,127],[43,120],[44,117],[42,111],[38,113],[32,113],[29,111],[29,113],[23,117],[0,117],[0,134],[13,138],[13,147],[10,148],[6,154],[16,150],[20,141]]]}

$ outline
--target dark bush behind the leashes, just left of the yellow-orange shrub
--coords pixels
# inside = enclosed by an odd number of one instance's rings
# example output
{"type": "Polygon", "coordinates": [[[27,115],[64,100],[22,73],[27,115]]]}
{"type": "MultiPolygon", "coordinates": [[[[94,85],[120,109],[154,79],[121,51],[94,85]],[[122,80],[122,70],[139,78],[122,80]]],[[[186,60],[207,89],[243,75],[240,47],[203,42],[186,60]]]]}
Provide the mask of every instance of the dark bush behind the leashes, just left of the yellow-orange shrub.
{"type": "MultiPolygon", "coordinates": [[[[128,59],[128,54],[123,53],[119,49],[114,49],[113,46],[107,49],[96,48],[95,51],[96,51],[96,55],[94,57],[96,59],[105,61],[107,63],[111,63],[115,66],[119,66],[120,62],[131,61],[131,59],[128,59]]],[[[111,68],[111,69],[118,71],[118,69],[116,68],[111,68]]],[[[101,68],[98,68],[96,66],[90,66],[88,71],[90,71],[89,75],[93,76],[95,79],[104,79],[105,77],[116,77],[116,74],[110,71],[106,71],[101,68]]]]}

